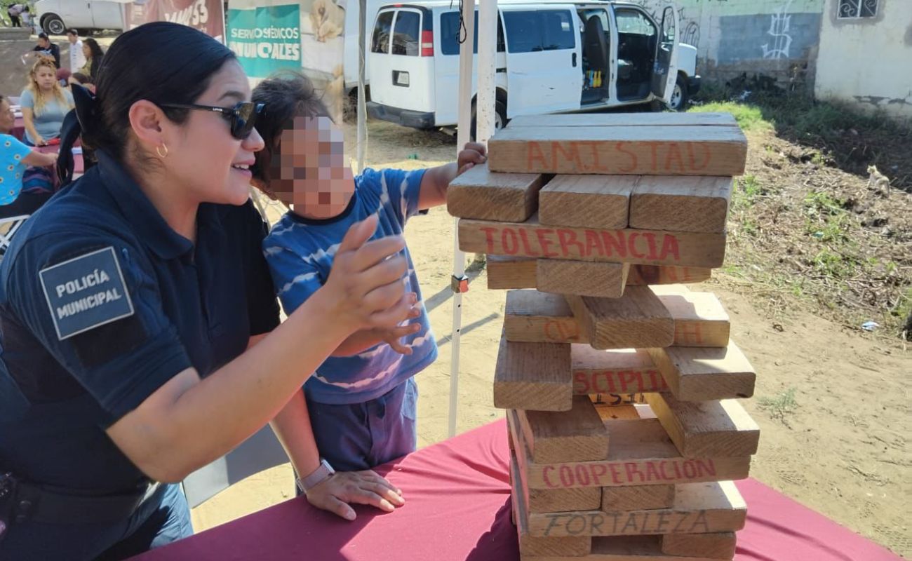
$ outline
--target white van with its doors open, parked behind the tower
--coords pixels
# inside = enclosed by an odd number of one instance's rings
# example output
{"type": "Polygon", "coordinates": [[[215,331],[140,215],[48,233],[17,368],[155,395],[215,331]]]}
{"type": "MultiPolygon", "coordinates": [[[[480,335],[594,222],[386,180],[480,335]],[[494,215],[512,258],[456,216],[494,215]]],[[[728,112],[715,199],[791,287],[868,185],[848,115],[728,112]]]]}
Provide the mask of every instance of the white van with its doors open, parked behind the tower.
{"type": "MultiPolygon", "coordinates": [[[[517,115],[654,99],[679,109],[700,88],[697,49],[675,41],[674,6],[659,22],[621,2],[500,0],[498,10],[495,128],[517,115]]],[[[418,129],[455,125],[459,34],[450,0],[380,7],[369,37],[370,115],[418,129]]],[[[474,70],[472,115],[477,57],[474,70]]]]}

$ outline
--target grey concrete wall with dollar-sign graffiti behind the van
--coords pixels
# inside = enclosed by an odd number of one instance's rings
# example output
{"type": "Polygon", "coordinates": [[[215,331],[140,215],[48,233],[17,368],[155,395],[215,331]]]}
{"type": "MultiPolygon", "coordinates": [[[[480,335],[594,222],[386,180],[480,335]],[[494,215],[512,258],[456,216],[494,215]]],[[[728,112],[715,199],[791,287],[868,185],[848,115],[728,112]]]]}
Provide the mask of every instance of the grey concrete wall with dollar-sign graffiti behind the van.
{"type": "MultiPolygon", "coordinates": [[[[660,14],[668,0],[635,0],[660,14]]],[[[680,40],[697,47],[698,72],[721,82],[747,73],[809,88],[825,0],[677,0],[680,40]]],[[[899,0],[909,1],[909,0],[899,0]]]]}

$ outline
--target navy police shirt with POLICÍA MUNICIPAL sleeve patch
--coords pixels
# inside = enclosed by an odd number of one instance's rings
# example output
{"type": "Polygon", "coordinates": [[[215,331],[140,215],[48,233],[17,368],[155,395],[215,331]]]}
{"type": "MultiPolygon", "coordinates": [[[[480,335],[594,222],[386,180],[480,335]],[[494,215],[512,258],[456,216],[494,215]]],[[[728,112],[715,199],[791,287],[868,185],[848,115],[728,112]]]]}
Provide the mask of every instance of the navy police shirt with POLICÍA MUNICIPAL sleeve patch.
{"type": "Polygon", "coordinates": [[[202,204],[194,245],[99,151],[0,267],[0,473],[92,494],[148,483],[105,430],[278,325],[265,234],[249,201],[202,204]]]}

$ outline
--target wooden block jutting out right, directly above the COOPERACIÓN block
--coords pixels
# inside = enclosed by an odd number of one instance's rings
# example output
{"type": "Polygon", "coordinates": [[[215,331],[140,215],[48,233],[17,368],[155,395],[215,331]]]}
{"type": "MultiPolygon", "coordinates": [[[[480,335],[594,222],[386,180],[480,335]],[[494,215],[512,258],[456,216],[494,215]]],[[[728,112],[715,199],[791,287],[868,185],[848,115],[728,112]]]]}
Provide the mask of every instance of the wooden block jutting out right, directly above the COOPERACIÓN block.
{"type": "Polygon", "coordinates": [[[757,453],[760,427],[737,400],[679,401],[662,393],[646,400],[685,458],[757,453]]]}

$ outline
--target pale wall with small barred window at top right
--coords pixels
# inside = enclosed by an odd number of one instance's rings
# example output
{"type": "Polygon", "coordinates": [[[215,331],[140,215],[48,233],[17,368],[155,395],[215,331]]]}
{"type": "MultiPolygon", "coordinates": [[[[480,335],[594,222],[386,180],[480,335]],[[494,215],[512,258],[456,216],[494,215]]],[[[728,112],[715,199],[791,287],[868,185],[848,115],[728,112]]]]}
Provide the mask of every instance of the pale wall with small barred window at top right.
{"type": "Polygon", "coordinates": [[[912,118],[912,1],[879,0],[877,16],[837,19],[826,0],[814,95],[912,118]]]}

